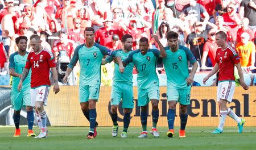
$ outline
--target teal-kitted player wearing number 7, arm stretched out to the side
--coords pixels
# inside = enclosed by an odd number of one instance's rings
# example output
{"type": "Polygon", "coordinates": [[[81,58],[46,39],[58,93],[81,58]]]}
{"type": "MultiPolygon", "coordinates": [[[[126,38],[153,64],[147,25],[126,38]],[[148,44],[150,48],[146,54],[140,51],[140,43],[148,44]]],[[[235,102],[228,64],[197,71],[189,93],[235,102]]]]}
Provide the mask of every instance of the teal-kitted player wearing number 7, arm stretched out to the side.
{"type": "MultiPolygon", "coordinates": [[[[74,56],[68,65],[67,73],[63,78],[67,82],[69,74],[79,60],[80,64],[80,83],[79,99],[82,112],[90,122],[88,139],[96,137],[96,102],[98,101],[101,84],[101,61],[104,55],[117,57],[117,52],[112,52],[108,48],[94,43],[94,29],[86,27],[84,31],[85,44],[79,45],[74,52],[74,56]]],[[[119,71],[123,73],[123,65],[120,57],[117,57],[119,71]]]]}

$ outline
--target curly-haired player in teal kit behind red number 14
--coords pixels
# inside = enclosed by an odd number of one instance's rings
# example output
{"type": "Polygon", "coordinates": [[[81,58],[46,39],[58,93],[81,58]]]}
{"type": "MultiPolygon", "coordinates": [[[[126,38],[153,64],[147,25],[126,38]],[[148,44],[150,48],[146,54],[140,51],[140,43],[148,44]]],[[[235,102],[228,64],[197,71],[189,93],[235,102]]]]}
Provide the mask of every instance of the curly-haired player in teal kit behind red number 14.
{"type": "Polygon", "coordinates": [[[18,38],[16,38],[15,42],[18,46],[18,52],[13,53],[9,59],[10,75],[13,76],[13,84],[11,85],[11,105],[14,109],[13,120],[16,127],[14,137],[20,136],[19,120],[20,110],[22,109],[22,106],[26,106],[27,110],[27,136],[35,136],[34,132],[32,131],[34,124],[34,112],[30,98],[31,70],[28,73],[28,77],[26,78],[26,80],[23,81],[22,90],[18,90],[18,84],[22,76],[24,66],[26,65],[26,60],[28,56],[28,52],[26,52],[27,37],[19,36],[18,38]]]}

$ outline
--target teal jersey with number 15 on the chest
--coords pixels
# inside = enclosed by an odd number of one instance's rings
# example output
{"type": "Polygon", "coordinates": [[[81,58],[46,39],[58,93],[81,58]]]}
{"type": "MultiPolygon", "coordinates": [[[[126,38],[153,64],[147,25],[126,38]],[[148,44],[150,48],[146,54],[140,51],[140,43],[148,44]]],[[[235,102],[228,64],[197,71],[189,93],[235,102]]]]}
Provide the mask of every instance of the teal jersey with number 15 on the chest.
{"type": "Polygon", "coordinates": [[[176,52],[172,52],[170,47],[165,47],[167,56],[163,59],[166,70],[167,85],[178,89],[187,87],[186,79],[189,77],[188,62],[193,64],[196,59],[192,52],[182,45],[176,52]]]}

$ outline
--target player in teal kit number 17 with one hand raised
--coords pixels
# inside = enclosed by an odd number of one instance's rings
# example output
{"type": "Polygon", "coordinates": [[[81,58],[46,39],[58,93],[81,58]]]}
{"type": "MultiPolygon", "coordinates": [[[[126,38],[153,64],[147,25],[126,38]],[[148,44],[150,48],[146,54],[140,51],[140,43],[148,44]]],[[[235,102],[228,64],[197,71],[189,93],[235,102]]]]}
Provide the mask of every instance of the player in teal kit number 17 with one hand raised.
{"type": "MultiPolygon", "coordinates": [[[[156,36],[154,36],[155,38],[156,36]]],[[[158,43],[159,40],[157,40],[158,43]]],[[[159,80],[156,74],[156,62],[159,57],[165,57],[166,52],[162,49],[148,49],[148,39],[141,38],[139,40],[139,49],[130,53],[130,55],[123,61],[124,66],[133,62],[138,70],[138,106],[141,106],[141,124],[142,132],[138,138],[147,137],[147,110],[148,103],[152,103],[152,132],[154,137],[159,137],[156,130],[156,124],[159,117],[159,80]]]]}

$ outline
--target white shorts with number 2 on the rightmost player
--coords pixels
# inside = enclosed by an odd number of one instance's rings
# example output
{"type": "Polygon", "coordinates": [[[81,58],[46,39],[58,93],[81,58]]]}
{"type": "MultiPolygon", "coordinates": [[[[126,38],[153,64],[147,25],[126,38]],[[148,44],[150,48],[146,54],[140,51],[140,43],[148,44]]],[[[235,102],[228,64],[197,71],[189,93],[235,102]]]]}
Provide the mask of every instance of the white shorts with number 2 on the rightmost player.
{"type": "Polygon", "coordinates": [[[220,99],[225,99],[228,102],[232,102],[234,95],[235,82],[234,81],[222,81],[218,82],[217,89],[217,102],[220,99]]]}

